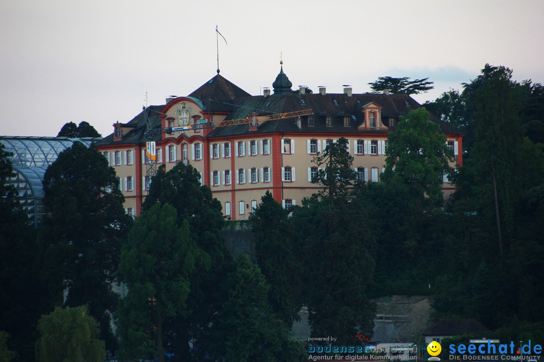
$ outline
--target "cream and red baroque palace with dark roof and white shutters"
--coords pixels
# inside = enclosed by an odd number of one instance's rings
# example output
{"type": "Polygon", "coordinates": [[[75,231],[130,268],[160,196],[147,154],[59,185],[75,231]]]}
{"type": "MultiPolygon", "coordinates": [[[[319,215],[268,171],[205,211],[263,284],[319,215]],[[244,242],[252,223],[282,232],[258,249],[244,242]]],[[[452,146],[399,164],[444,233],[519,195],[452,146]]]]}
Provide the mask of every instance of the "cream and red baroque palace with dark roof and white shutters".
{"type": "MultiPolygon", "coordinates": [[[[146,141],[154,141],[157,164],[165,164],[167,171],[177,162],[196,168],[202,185],[221,201],[225,217],[240,220],[248,218],[267,190],[286,208],[316,193],[320,187],[311,180],[318,169],[312,159],[340,137],[349,140],[357,177],[378,182],[388,132],[399,117],[418,107],[406,94],[355,94],[350,87],[339,94],[326,93],[325,87],[317,93],[306,87],[293,91],[283,68],[272,93],[265,89],[251,96],[218,73],[187,97],[168,98],[165,105],[149,106],[128,123],[115,123],[113,134],[96,146],[119,176],[129,214],[140,213],[149,188],[146,141]],[[211,126],[301,110],[311,111],[262,123],[211,126]],[[190,129],[169,131],[183,126],[190,129]],[[150,129],[156,132],[149,135],[150,129]]],[[[461,166],[462,133],[439,119],[434,122],[454,152],[452,167],[461,166]]],[[[453,189],[447,179],[443,189],[453,189]]]]}

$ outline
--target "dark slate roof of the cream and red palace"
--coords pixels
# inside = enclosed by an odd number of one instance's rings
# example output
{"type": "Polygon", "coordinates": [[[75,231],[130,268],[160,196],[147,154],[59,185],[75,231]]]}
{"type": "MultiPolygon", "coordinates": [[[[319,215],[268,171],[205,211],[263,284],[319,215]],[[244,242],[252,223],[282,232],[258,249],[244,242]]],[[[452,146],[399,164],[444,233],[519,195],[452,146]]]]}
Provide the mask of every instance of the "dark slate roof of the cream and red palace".
{"type": "MultiPolygon", "coordinates": [[[[282,72],[278,75],[280,77],[282,72]]],[[[283,74],[285,75],[285,73],[283,74]]],[[[285,75],[285,78],[287,76],[285,75]]],[[[283,85],[283,84],[282,84],[283,85]]],[[[287,85],[286,85],[287,87],[287,85]]],[[[258,126],[256,131],[249,131],[249,125],[228,126],[214,129],[208,137],[224,137],[246,134],[265,134],[269,132],[310,132],[310,133],[351,133],[360,134],[376,133],[385,134],[388,130],[358,130],[357,127],[363,120],[362,107],[369,103],[376,103],[381,106],[382,119],[387,125],[388,118],[405,116],[413,109],[421,107],[416,100],[407,94],[374,94],[362,93],[353,94],[348,97],[343,93],[307,93],[300,94],[299,91],[279,92],[271,96],[251,96],[242,88],[233,84],[217,74],[205,84],[201,85],[188,97],[200,100],[204,109],[212,112],[230,112],[226,119],[239,119],[248,117],[249,113],[255,112],[258,115],[271,115],[274,113],[292,112],[304,109],[312,109],[314,113],[314,126],[308,126],[306,118],[302,121],[302,128],[296,126],[295,118],[271,120],[258,126]],[[325,117],[332,117],[332,127],[325,125],[325,117]],[[344,126],[343,117],[350,117],[350,125],[344,126]]],[[[165,105],[153,105],[146,108],[151,127],[161,127],[159,114],[165,105]]],[[[450,126],[436,116],[432,120],[440,125],[444,134],[461,135],[463,132],[450,126]]],[[[114,141],[113,133],[104,137],[97,145],[112,145],[126,143],[140,143],[145,140],[147,129],[145,113],[142,111],[126,124],[133,127],[132,130],[123,135],[122,141],[114,141]]],[[[391,127],[390,130],[394,130],[391,127]]],[[[155,141],[160,141],[160,135],[154,135],[155,141]]]]}

